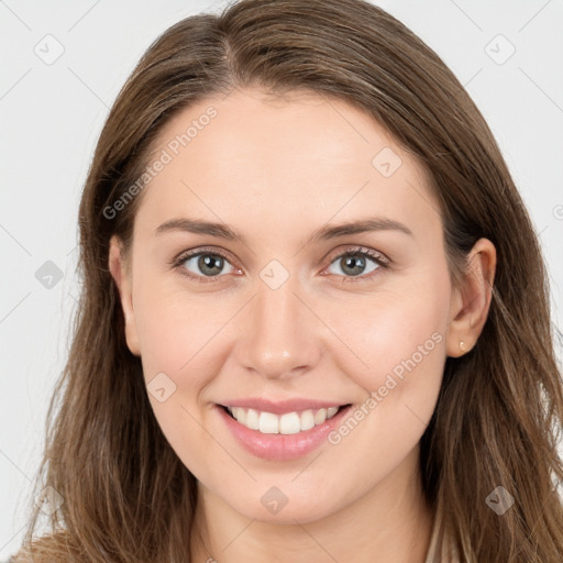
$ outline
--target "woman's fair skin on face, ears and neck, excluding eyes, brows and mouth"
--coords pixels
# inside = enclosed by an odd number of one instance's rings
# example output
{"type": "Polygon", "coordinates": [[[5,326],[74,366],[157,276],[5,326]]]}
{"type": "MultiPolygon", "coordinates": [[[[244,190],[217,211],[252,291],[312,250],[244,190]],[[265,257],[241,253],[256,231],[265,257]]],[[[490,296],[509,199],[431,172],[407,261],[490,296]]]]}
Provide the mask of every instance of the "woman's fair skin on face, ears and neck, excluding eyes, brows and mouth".
{"type": "Polygon", "coordinates": [[[239,89],[176,114],[155,154],[211,104],[218,115],[143,191],[131,255],[112,239],[109,258],[128,346],[141,356],[145,380],[164,372],[176,385],[164,402],[148,396],[198,479],[203,542],[192,530],[191,561],[423,563],[434,515],[422,499],[419,440],[446,355],[470,351],[485,323],[495,247],[479,240],[471,275],[452,287],[424,169],[342,100],[239,89]],[[402,163],[389,177],[372,165],[384,147],[402,163]],[[328,222],[375,216],[412,235],[387,230],[305,245],[328,222]],[[181,231],[155,235],[181,217],[224,222],[246,244],[181,231]],[[202,246],[228,254],[219,275],[202,272],[197,257],[169,266],[202,246]],[[355,246],[384,253],[390,267],[369,278],[378,265],[366,258],[351,275],[336,255],[355,246]],[[272,260],[289,274],[275,290],[260,276],[272,260]],[[432,333],[441,342],[349,435],[296,461],[247,453],[212,408],[251,396],[360,406],[432,333]],[[272,486],[288,498],[276,515],[261,503],[272,486]]]}

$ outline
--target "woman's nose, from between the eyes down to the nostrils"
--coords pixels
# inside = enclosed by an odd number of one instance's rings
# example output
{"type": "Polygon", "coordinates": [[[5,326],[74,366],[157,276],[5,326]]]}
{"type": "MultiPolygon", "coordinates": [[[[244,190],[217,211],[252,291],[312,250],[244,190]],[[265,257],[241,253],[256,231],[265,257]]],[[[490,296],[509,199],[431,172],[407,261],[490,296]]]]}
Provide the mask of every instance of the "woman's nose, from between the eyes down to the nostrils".
{"type": "Polygon", "coordinates": [[[286,379],[312,369],[321,356],[320,321],[290,277],[272,289],[260,280],[241,320],[238,360],[263,377],[286,379]]]}

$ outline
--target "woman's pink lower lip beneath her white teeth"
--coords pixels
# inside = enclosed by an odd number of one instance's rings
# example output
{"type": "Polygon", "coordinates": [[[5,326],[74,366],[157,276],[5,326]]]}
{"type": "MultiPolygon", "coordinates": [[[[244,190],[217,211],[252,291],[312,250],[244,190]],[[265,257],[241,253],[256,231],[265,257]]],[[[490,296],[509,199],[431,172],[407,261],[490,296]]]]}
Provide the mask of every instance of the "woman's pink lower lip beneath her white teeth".
{"type": "Polygon", "coordinates": [[[296,434],[263,434],[258,430],[251,430],[241,424],[223,407],[216,405],[216,408],[234,438],[246,451],[265,460],[289,461],[302,457],[319,448],[327,435],[340,424],[352,406],[341,408],[322,424],[296,434]]]}

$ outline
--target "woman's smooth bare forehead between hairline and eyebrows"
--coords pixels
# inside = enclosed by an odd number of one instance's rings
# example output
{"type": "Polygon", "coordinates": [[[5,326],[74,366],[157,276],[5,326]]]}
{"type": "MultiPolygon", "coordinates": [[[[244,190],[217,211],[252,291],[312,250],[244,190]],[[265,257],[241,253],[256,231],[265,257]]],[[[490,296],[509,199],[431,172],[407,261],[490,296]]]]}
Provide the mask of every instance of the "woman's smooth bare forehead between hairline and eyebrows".
{"type": "Polygon", "coordinates": [[[199,101],[161,131],[151,158],[163,157],[139,210],[147,224],[197,216],[284,231],[368,211],[440,222],[421,164],[335,98],[245,89],[199,101]]]}

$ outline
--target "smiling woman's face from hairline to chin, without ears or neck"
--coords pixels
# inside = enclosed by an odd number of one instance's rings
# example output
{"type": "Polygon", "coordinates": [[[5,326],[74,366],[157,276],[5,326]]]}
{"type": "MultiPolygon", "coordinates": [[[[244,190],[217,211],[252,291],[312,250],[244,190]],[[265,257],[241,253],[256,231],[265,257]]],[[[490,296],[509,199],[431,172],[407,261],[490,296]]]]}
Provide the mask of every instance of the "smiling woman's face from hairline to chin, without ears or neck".
{"type": "Polygon", "coordinates": [[[422,167],[342,100],[256,89],[183,110],[156,158],[120,288],[154,413],[199,485],[247,518],[307,522],[406,475],[454,302],[422,167]]]}

